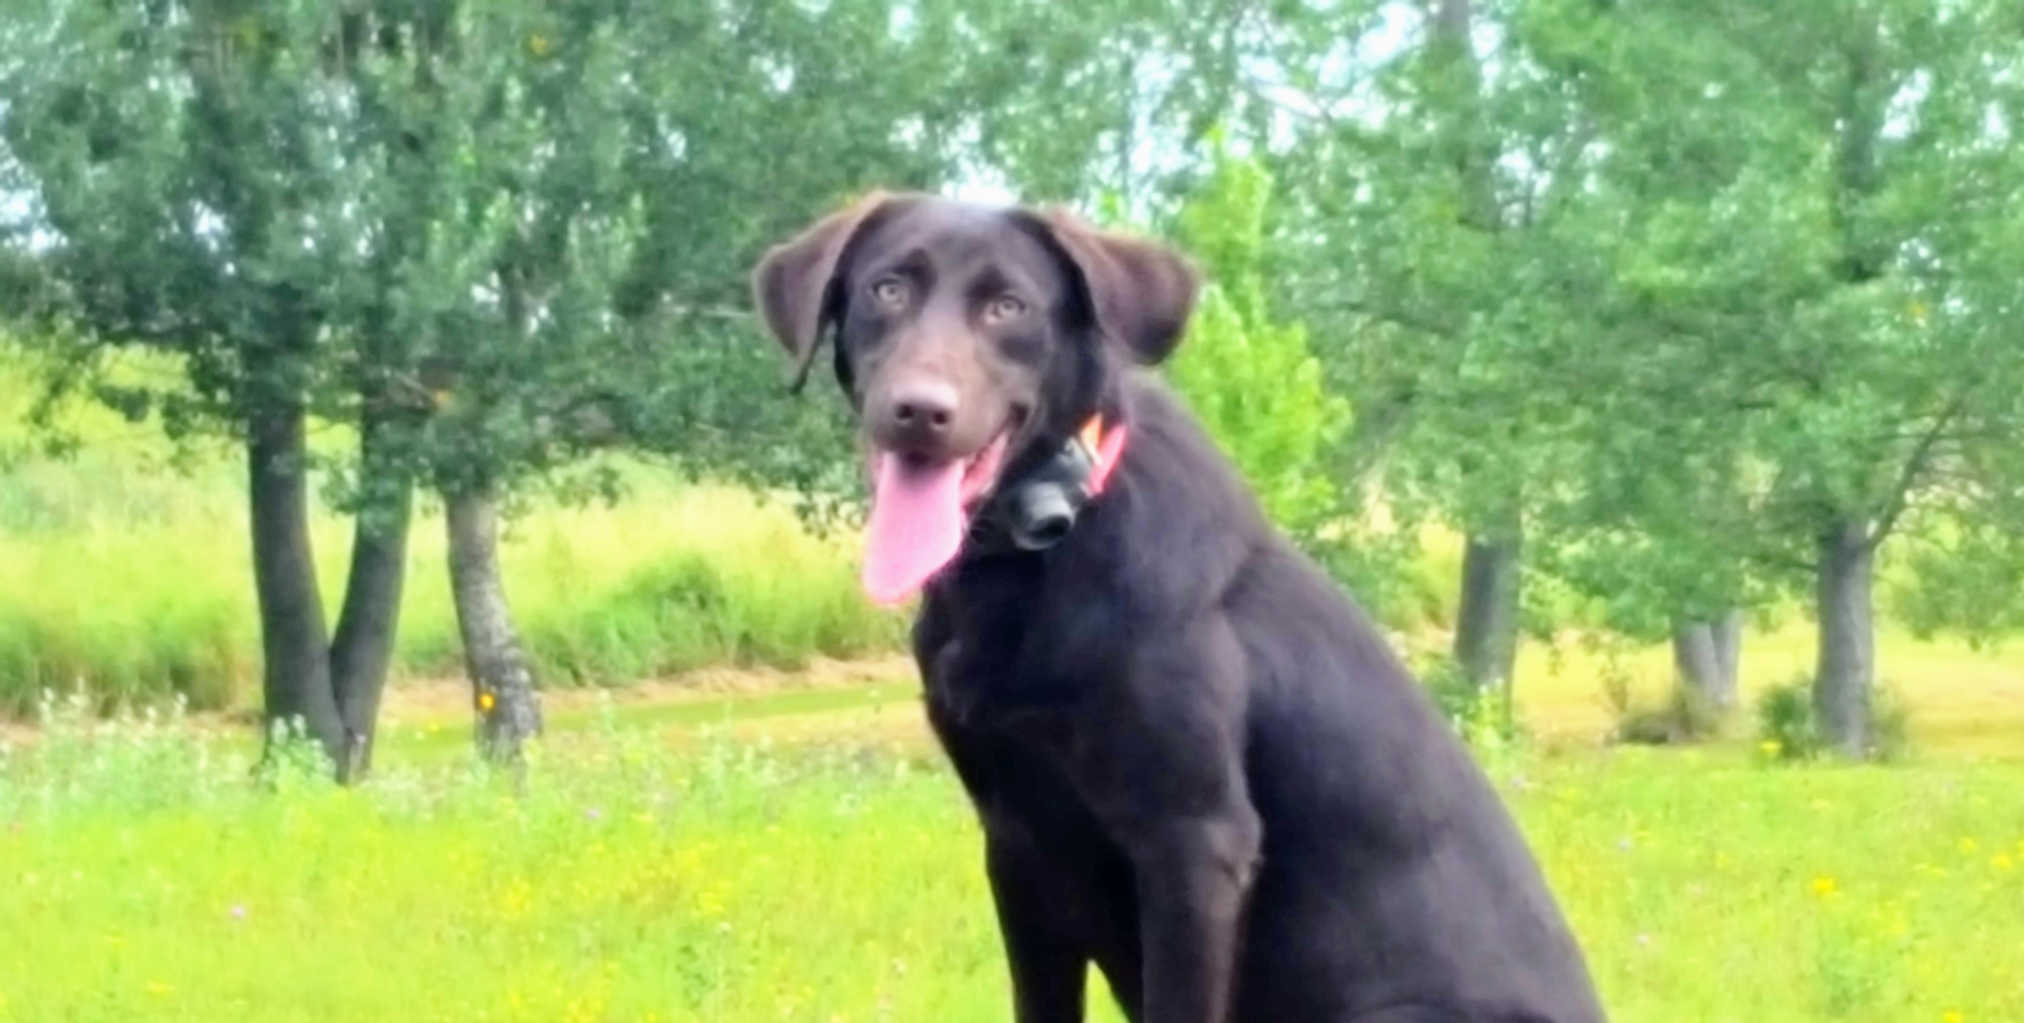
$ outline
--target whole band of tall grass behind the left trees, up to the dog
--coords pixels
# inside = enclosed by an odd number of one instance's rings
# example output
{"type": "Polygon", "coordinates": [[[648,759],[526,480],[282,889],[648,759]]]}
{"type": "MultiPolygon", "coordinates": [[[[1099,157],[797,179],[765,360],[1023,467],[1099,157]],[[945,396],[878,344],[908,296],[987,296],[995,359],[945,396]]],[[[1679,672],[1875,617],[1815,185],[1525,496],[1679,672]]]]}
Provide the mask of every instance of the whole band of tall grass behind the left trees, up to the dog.
{"type": "MultiPolygon", "coordinates": [[[[184,695],[243,707],[259,634],[237,452],[172,448],[152,423],[73,403],[81,440],[51,456],[24,425],[24,357],[0,346],[0,715],[43,689],[103,703],[184,695]]],[[[332,431],[322,448],[340,450],[332,431]]],[[[838,541],[779,502],[621,466],[613,506],[530,498],[502,541],[508,598],[544,685],[625,685],[706,664],[797,666],[891,650],[905,622],[858,598],[838,541]]],[[[350,529],[314,523],[326,612],[336,614],[350,529]]],[[[461,675],[443,523],[425,500],[409,553],[399,677],[461,675]]]]}

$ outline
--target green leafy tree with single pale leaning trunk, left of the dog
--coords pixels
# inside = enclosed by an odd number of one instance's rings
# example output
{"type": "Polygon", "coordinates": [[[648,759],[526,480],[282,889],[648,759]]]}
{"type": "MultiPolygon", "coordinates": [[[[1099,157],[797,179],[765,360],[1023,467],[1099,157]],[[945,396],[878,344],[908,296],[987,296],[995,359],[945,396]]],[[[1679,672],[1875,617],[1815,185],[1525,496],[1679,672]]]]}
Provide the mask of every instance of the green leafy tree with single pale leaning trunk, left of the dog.
{"type": "Polygon", "coordinates": [[[937,83],[961,65],[923,36],[949,8],[913,8],[911,32],[895,10],[492,4],[429,65],[443,99],[389,126],[433,146],[433,196],[405,213],[429,237],[409,338],[443,397],[425,458],[488,750],[538,727],[498,577],[504,498],[619,446],[804,492],[848,466],[834,429],[735,397],[759,352],[739,308],[783,209],[945,174],[961,107],[937,83]]]}

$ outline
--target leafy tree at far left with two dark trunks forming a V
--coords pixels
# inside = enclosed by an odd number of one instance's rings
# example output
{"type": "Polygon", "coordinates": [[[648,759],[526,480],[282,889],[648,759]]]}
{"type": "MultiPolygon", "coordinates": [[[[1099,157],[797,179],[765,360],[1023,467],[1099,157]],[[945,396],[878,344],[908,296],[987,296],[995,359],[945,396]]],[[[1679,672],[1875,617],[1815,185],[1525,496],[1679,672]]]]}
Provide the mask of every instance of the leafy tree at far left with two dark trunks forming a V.
{"type": "MultiPolygon", "coordinates": [[[[269,721],[302,721],[350,774],[399,614],[409,480],[364,458],[336,634],[310,543],[312,407],[332,373],[338,290],[376,239],[342,154],[354,51],[326,4],[130,2],[8,8],[0,132],[30,194],[49,308],[91,363],[109,346],[172,355],[182,387],[107,395],[176,434],[245,444],[269,721]]],[[[366,395],[350,399],[385,409],[366,395]]],[[[366,425],[368,446],[395,429],[366,425]]]]}

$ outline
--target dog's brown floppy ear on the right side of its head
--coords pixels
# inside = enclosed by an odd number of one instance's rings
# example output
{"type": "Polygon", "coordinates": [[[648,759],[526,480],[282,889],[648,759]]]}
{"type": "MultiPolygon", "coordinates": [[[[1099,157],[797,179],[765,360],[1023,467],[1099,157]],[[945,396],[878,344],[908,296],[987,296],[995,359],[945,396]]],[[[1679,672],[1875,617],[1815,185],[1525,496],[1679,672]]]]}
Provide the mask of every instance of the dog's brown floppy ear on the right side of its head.
{"type": "Polygon", "coordinates": [[[1101,231],[1069,211],[1048,211],[1044,221],[1081,271],[1097,326],[1144,365],[1172,355],[1202,288],[1194,263],[1158,241],[1101,231]]]}

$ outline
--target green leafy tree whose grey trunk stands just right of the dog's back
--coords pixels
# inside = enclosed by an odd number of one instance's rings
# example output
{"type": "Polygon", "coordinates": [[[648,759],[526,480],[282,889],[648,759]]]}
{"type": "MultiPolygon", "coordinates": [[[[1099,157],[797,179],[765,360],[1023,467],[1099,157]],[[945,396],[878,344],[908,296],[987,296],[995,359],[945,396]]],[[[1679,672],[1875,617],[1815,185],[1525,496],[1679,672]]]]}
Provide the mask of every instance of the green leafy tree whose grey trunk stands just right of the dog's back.
{"type": "Polygon", "coordinates": [[[1289,126],[1277,296],[1358,411],[1344,486],[1372,474],[1403,533],[1467,537],[1453,658],[1480,689],[1514,671],[1526,523],[1567,486],[1563,379],[1605,278],[1595,130],[1518,8],[1314,6],[1263,89],[1289,126]]]}

